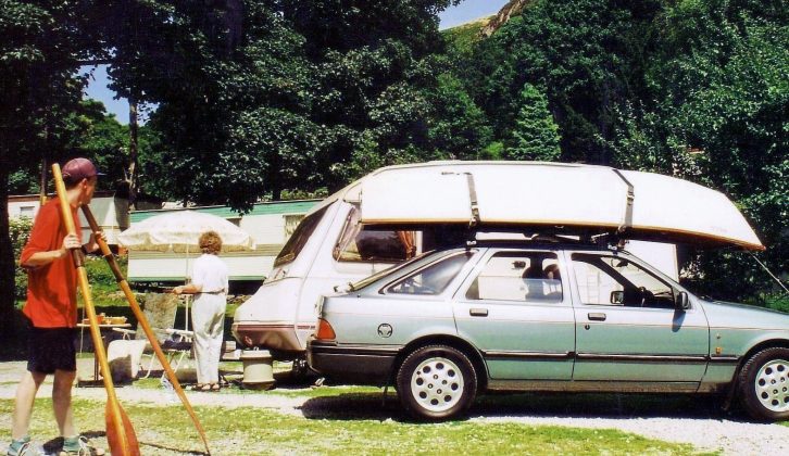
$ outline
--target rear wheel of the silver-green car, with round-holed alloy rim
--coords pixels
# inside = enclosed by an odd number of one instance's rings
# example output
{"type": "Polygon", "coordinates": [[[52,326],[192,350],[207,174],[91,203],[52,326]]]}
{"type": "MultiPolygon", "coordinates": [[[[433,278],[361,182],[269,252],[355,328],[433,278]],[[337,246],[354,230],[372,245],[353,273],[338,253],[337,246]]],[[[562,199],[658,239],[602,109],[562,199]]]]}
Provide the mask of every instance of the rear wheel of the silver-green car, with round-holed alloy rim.
{"type": "Polygon", "coordinates": [[[396,384],[400,402],[413,417],[442,420],[472,405],[477,373],[463,352],[448,345],[427,345],[403,360],[396,384]]]}

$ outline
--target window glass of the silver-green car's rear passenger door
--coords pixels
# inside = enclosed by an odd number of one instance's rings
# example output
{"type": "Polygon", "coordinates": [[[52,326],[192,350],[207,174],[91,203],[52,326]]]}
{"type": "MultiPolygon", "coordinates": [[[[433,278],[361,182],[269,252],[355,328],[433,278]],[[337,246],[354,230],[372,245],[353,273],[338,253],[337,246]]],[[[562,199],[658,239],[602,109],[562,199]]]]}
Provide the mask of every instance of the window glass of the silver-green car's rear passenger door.
{"type": "Polygon", "coordinates": [[[561,302],[559,261],[551,252],[499,252],[466,291],[468,300],[561,302]]]}

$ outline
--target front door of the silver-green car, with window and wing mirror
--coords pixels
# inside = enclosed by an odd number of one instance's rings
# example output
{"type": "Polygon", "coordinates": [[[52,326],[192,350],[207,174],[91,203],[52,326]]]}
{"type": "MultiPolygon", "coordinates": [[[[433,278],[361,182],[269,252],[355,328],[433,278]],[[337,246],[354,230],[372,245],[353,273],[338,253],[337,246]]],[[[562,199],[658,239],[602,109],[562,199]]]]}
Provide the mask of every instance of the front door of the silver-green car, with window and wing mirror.
{"type": "Polygon", "coordinates": [[[701,380],[709,354],[701,308],[676,311],[677,288],[629,255],[569,256],[576,303],[574,380],[701,380]]]}

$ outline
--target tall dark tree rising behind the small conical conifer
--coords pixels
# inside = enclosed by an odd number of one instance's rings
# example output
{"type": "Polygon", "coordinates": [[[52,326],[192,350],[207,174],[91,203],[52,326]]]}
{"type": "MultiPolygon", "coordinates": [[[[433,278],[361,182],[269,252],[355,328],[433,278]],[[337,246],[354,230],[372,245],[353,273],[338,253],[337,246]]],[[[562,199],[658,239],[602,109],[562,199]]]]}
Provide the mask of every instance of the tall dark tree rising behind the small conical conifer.
{"type": "Polygon", "coordinates": [[[644,86],[642,68],[661,4],[534,1],[454,68],[491,119],[496,139],[510,139],[521,91],[531,84],[546,88],[562,131],[563,159],[611,164],[613,113],[644,86]]]}

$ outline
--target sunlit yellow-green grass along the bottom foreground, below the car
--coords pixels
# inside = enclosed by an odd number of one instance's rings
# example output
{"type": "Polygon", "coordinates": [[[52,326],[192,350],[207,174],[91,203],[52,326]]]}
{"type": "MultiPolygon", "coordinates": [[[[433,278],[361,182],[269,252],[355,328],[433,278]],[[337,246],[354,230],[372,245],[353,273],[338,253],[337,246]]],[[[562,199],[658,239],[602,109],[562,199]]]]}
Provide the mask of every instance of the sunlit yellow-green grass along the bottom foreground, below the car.
{"type": "MultiPolygon", "coordinates": [[[[336,400],[348,396],[335,393],[336,400]]],[[[303,416],[251,407],[197,407],[213,454],[694,454],[692,446],[678,445],[615,430],[587,430],[537,427],[517,423],[413,423],[389,411],[379,395],[365,400],[353,394],[355,405],[372,409],[367,416],[358,407],[340,407],[347,413],[322,414],[322,407],[308,407],[303,416]],[[365,404],[365,401],[367,402],[365,404]],[[360,404],[361,402],[361,404],[360,404]],[[315,408],[317,411],[310,411],[315,408]]],[[[368,396],[368,395],[367,395],[368,396]]],[[[316,397],[327,402],[331,397],[316,397]]],[[[310,401],[308,402],[308,404],[310,401]]],[[[82,431],[97,444],[105,445],[103,403],[75,400],[75,419],[82,431]]],[[[325,407],[326,405],[324,405],[325,407]]],[[[0,401],[0,439],[8,441],[11,401],[0,401]]],[[[124,405],[145,455],[200,454],[202,445],[180,406],[150,407],[124,405]]],[[[36,401],[30,433],[39,442],[53,439],[51,402],[36,401]]],[[[57,444],[57,442],[51,442],[57,444]]]]}

